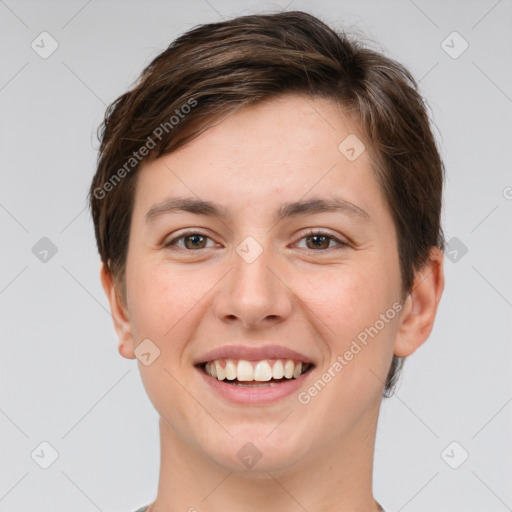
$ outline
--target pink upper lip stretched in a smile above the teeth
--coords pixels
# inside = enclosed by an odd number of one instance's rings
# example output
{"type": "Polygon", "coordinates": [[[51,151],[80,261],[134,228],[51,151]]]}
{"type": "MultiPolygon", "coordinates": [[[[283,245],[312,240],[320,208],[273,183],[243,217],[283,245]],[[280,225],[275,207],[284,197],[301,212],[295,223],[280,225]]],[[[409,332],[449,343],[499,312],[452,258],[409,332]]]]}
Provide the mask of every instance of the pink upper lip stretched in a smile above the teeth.
{"type": "MultiPolygon", "coordinates": [[[[254,343],[254,342],[253,342],[254,343]]],[[[247,361],[262,361],[264,359],[294,359],[313,364],[310,357],[281,345],[265,345],[248,347],[246,345],[230,345],[210,350],[199,357],[195,364],[203,364],[215,359],[245,359],[247,361]]]]}

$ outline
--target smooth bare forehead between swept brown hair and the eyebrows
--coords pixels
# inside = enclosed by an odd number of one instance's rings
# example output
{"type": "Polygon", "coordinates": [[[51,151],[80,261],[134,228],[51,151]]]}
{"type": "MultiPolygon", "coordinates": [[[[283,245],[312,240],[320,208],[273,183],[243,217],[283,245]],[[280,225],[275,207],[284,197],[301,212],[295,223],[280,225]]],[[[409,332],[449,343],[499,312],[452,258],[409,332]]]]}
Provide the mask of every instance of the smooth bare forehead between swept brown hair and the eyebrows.
{"type": "Polygon", "coordinates": [[[357,123],[325,98],[287,95],[242,108],[139,174],[144,213],[170,195],[245,210],[340,194],[366,211],[385,207],[357,123]]]}

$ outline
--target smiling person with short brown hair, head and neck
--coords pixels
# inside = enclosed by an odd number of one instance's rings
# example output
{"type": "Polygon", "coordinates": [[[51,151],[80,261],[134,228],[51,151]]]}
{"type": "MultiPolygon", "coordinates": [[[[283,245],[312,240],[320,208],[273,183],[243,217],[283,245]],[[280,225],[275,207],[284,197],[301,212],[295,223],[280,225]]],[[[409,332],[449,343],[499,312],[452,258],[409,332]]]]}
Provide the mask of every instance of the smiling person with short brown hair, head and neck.
{"type": "Polygon", "coordinates": [[[139,512],[383,510],[375,433],[444,285],[414,79],[303,12],[182,35],[108,109],[90,202],[160,416],[139,512]]]}

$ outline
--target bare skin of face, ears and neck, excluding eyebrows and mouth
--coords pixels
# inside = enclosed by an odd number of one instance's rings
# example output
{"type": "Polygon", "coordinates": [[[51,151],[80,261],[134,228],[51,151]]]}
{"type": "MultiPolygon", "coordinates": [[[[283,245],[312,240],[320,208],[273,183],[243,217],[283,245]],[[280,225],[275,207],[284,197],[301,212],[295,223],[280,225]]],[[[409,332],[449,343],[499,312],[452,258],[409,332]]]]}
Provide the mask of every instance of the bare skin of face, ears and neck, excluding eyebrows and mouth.
{"type": "Polygon", "coordinates": [[[431,332],[443,258],[432,249],[402,300],[395,226],[369,151],[349,161],[338,150],[349,134],[362,139],[336,103],[288,95],[242,109],[140,169],[125,300],[105,268],[101,277],[120,354],[135,358],[145,339],[160,350],[149,366],[139,361],[160,415],[151,512],[380,510],[372,470],[383,387],[393,354],[409,356],[431,332]],[[146,221],[154,205],[177,196],[217,203],[227,216],[181,211],[146,221]],[[313,197],[341,198],[366,215],[349,207],[274,218],[283,203],[313,197]],[[186,228],[196,238],[176,240],[186,228]],[[315,244],[311,228],[332,238],[315,244]],[[262,250],[251,263],[236,251],[246,237],[262,250]],[[400,311],[390,319],[394,304],[400,311]],[[383,314],[378,334],[334,371],[383,314]],[[334,377],[308,403],[292,393],[234,404],[194,367],[212,348],[234,344],[308,355],[315,367],[302,396],[329,369],[334,377]],[[248,442],[261,453],[251,468],[237,456],[248,442]]]}

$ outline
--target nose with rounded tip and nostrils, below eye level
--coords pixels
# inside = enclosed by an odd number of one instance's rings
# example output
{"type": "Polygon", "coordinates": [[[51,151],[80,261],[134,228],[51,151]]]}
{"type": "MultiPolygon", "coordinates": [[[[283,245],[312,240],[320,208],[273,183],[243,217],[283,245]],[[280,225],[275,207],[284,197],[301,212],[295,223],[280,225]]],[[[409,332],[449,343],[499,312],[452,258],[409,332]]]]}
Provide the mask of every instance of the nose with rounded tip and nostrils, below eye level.
{"type": "Polygon", "coordinates": [[[234,252],[230,263],[231,271],[219,283],[214,299],[218,318],[261,329],[281,323],[290,315],[293,292],[271,249],[264,249],[254,261],[234,252]]]}

